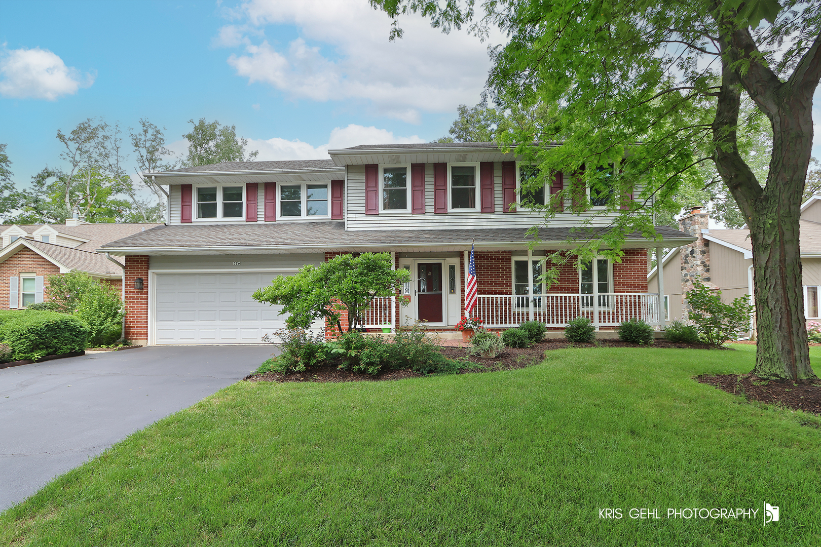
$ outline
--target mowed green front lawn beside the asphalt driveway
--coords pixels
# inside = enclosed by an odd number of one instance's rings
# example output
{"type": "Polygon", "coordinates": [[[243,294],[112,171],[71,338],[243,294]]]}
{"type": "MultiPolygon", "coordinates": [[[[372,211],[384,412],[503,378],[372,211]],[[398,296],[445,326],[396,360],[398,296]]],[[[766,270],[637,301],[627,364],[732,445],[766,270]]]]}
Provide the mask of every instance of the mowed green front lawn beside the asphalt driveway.
{"type": "Polygon", "coordinates": [[[239,382],[7,510],[0,545],[821,545],[821,419],[690,379],[749,372],[754,347],[736,347],[239,382]],[[765,502],[781,522],[764,526],[765,502]],[[615,520],[600,508],[759,513],[615,520]]]}

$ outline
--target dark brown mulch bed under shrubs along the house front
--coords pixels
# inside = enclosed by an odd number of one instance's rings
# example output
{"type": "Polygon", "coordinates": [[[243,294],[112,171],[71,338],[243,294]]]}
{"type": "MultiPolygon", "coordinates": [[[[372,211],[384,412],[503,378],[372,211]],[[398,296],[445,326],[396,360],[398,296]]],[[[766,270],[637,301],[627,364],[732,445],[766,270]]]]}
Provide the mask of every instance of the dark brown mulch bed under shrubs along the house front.
{"type": "MultiPolygon", "coordinates": [[[[466,372],[493,372],[493,371],[507,371],[515,368],[525,368],[531,365],[538,364],[544,359],[544,352],[552,349],[563,348],[641,348],[639,344],[629,344],[621,340],[599,340],[599,344],[570,344],[566,340],[544,340],[539,344],[534,344],[530,348],[506,348],[504,352],[500,353],[495,358],[483,358],[478,355],[471,355],[469,361],[478,363],[484,368],[470,368],[462,369],[461,373],[466,372]]],[[[673,344],[667,340],[654,340],[654,348],[684,348],[684,349],[710,349],[708,344],[673,344]]],[[[452,346],[442,346],[440,348],[443,355],[448,358],[465,358],[466,348],[457,348],[452,346]]],[[[346,382],[346,381],[381,381],[381,380],[401,380],[403,378],[418,378],[421,375],[418,372],[407,370],[390,370],[380,372],[375,376],[360,372],[340,371],[337,369],[342,361],[329,362],[323,367],[315,367],[306,372],[294,372],[291,374],[281,374],[279,372],[264,372],[261,374],[250,374],[245,376],[244,380],[248,381],[273,381],[273,382],[346,382]]]]}

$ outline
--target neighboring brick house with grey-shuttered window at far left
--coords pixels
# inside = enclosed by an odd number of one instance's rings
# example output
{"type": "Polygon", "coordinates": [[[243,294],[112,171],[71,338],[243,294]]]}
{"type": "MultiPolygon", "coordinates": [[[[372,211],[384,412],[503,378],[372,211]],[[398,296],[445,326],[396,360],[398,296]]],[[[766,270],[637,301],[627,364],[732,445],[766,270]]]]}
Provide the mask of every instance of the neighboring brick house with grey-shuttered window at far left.
{"type": "MultiPolygon", "coordinates": [[[[2,226],[0,309],[27,308],[43,302],[48,276],[85,271],[122,291],[122,263],[95,249],[142,230],[147,224],[89,224],[69,219],[62,225],[2,226]]],[[[122,260],[122,259],[121,259],[122,260]]]]}

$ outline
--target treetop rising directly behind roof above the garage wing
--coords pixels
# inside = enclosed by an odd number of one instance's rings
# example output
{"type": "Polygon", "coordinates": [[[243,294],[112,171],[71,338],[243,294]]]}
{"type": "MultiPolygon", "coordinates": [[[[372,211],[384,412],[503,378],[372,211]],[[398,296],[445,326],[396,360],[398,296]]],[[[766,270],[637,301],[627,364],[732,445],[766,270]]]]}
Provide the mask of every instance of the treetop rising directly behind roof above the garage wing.
{"type": "Polygon", "coordinates": [[[194,123],[190,133],[182,135],[188,141],[188,157],[182,162],[184,167],[211,165],[221,162],[253,162],[258,151],[245,155],[248,139],[236,138],[236,125],[219,125],[218,121],[207,123],[205,118],[194,123]]]}

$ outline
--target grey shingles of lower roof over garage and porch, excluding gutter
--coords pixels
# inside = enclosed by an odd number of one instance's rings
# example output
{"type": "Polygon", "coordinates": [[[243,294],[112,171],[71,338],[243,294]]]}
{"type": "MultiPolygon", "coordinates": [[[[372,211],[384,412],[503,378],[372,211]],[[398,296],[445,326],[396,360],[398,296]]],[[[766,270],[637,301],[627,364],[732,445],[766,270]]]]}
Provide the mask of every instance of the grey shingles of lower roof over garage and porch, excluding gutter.
{"type": "MultiPolygon", "coordinates": [[[[658,226],[658,232],[667,240],[685,239],[690,235],[668,226],[658,226]]],[[[345,247],[369,244],[425,245],[464,244],[471,239],[477,243],[507,243],[530,241],[525,228],[473,230],[364,230],[346,231],[344,222],[271,222],[232,225],[171,225],[158,226],[130,235],[110,244],[107,248],[202,248],[202,247],[345,247]]],[[[571,236],[571,228],[541,228],[541,241],[564,241],[571,236]]],[[[578,235],[577,235],[578,237],[578,235]]],[[[644,239],[639,233],[628,239],[644,239]]]]}

